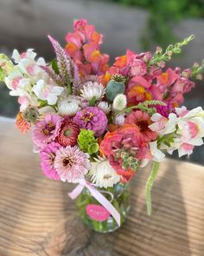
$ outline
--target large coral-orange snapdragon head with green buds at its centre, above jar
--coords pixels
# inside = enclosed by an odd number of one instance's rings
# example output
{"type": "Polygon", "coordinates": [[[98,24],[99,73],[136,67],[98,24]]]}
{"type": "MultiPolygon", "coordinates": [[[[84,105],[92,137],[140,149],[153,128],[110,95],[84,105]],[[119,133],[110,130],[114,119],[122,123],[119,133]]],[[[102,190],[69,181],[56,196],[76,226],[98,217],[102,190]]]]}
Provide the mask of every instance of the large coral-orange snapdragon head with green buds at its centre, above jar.
{"type": "Polygon", "coordinates": [[[137,171],[139,162],[151,158],[149,143],[136,125],[125,124],[115,132],[108,132],[100,143],[100,152],[108,157],[117,174],[128,181],[137,171]]]}

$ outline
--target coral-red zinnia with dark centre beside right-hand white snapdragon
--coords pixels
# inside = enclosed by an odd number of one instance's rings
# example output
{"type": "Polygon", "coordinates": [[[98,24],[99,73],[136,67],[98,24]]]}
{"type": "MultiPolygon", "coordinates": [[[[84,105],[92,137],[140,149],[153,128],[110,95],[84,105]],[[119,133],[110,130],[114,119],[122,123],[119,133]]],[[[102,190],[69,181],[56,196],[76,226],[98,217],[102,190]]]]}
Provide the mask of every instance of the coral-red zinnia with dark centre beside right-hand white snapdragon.
{"type": "Polygon", "coordinates": [[[151,124],[150,116],[140,110],[131,112],[125,120],[126,124],[135,124],[140,130],[141,135],[143,136],[143,141],[154,141],[156,140],[157,134],[150,130],[149,125],[151,124]]]}

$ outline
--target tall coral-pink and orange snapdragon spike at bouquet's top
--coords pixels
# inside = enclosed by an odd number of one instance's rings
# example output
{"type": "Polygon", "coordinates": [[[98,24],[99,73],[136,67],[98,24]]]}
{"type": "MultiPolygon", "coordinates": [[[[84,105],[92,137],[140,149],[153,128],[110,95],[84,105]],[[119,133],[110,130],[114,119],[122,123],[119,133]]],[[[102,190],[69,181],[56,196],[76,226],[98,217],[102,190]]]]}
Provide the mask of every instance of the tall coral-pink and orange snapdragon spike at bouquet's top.
{"type": "Polygon", "coordinates": [[[85,19],[76,21],[73,28],[74,32],[66,36],[66,50],[78,66],[80,75],[86,77],[86,75],[105,74],[109,56],[101,54],[99,50],[103,36],[85,19]]]}

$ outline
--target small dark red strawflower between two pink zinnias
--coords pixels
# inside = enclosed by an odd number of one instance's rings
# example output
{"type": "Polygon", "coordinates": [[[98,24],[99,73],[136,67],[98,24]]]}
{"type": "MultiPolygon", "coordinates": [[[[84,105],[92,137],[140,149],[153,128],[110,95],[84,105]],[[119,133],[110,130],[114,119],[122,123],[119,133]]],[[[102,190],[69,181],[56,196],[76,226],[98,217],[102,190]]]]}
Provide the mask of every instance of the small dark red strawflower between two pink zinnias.
{"type": "Polygon", "coordinates": [[[71,121],[65,121],[61,125],[61,130],[57,140],[64,147],[74,146],[77,143],[77,137],[79,134],[80,127],[78,124],[71,121]]]}

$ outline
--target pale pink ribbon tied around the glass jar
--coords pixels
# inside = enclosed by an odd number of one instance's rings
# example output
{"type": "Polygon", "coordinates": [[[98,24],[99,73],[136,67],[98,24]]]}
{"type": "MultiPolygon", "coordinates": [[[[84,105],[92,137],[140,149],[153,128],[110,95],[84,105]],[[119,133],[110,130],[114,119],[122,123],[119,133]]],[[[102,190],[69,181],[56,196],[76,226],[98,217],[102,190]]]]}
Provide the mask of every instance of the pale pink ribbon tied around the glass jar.
{"type": "Polygon", "coordinates": [[[105,209],[112,214],[112,217],[116,220],[118,223],[118,226],[120,226],[120,214],[118,213],[117,209],[112,206],[112,203],[105,198],[103,194],[101,194],[96,187],[92,186],[92,183],[87,182],[85,179],[80,180],[77,187],[73,189],[71,193],[68,193],[70,198],[72,200],[76,199],[78,195],[81,194],[82,190],[86,187],[89,192],[92,194],[92,196],[99,201],[99,203],[105,207],[105,209]]]}

